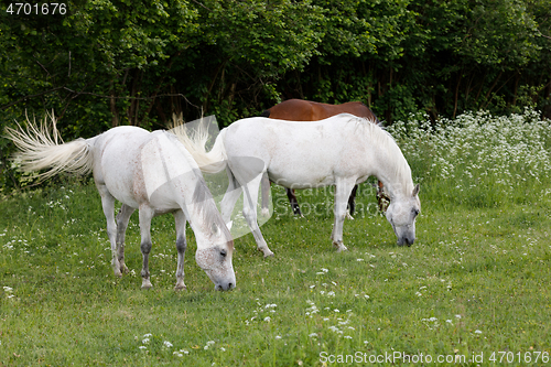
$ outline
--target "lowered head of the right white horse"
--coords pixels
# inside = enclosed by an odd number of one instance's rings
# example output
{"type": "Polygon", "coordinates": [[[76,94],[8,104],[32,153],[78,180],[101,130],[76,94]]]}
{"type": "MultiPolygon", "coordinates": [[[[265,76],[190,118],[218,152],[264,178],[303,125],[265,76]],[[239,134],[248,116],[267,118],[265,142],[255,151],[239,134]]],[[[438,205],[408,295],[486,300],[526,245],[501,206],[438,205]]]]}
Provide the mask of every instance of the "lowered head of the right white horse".
{"type": "Polygon", "coordinates": [[[398,237],[399,246],[411,246],[415,240],[415,218],[421,212],[418,194],[419,184],[413,188],[411,195],[395,197],[387,208],[387,220],[398,237]]]}

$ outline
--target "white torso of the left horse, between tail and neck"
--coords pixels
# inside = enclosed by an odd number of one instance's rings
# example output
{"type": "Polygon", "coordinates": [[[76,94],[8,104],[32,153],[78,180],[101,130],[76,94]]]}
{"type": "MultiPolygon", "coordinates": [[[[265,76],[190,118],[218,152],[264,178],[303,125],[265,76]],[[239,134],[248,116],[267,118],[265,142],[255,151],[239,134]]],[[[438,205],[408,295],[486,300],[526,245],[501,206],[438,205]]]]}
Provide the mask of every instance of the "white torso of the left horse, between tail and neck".
{"type": "Polygon", "coordinates": [[[162,211],[176,209],[179,203],[169,197],[168,184],[193,176],[196,165],[186,153],[176,138],[165,131],[114,128],[95,142],[94,179],[131,207],[151,203],[162,211]]]}

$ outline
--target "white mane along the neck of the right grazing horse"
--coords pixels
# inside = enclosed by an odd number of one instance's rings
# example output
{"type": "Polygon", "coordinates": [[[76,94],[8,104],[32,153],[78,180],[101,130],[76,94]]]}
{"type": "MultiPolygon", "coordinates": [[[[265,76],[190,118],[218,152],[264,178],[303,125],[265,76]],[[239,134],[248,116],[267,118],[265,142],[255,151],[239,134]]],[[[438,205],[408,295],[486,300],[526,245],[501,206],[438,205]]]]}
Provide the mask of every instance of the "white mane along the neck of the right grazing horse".
{"type": "Polygon", "coordinates": [[[357,123],[357,127],[363,130],[363,133],[370,138],[370,141],[377,150],[383,150],[390,155],[387,163],[393,165],[393,174],[401,183],[406,183],[403,187],[407,191],[412,192],[413,181],[411,179],[411,168],[395,138],[377,123],[378,120],[376,119],[350,116],[349,122],[357,123]]]}

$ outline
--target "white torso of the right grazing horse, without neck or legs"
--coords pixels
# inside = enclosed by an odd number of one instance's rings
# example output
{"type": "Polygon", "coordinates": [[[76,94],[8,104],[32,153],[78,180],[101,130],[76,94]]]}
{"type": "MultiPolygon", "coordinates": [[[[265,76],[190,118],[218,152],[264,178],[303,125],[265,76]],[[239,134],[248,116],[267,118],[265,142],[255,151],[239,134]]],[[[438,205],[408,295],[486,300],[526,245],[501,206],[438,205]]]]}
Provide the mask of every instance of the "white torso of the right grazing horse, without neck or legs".
{"type": "Polygon", "coordinates": [[[358,163],[363,161],[357,158],[366,156],[369,144],[350,118],[342,115],[311,123],[261,117],[236,121],[226,128],[224,139],[230,169],[253,177],[262,168],[234,158],[255,158],[264,162],[270,180],[294,188],[334,184],[343,170],[363,176],[358,163]]]}

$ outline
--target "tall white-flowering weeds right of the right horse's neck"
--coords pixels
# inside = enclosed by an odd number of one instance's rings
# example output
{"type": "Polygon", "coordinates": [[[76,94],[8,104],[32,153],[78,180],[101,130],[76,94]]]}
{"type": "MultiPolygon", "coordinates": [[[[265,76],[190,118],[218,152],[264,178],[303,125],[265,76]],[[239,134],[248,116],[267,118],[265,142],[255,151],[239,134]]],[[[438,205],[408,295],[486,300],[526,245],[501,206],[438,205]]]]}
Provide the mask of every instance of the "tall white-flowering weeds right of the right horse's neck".
{"type": "Polygon", "coordinates": [[[436,203],[494,207],[530,201],[550,184],[551,121],[539,112],[468,112],[431,123],[412,116],[389,127],[422,191],[436,203]]]}

